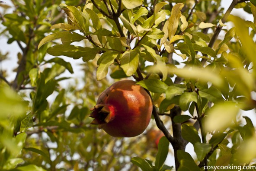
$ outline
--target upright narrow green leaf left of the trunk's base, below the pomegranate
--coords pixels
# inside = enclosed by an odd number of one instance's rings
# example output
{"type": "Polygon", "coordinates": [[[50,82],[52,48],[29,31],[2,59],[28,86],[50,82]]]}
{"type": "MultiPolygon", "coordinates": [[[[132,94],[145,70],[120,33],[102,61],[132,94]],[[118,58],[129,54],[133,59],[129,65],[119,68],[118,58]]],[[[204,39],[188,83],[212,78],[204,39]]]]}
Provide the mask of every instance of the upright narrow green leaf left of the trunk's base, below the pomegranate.
{"type": "Polygon", "coordinates": [[[166,157],[169,152],[169,141],[168,139],[163,136],[158,144],[158,152],[156,156],[155,165],[158,169],[160,169],[163,166],[164,161],[166,160],[166,157]]]}

